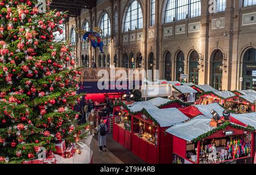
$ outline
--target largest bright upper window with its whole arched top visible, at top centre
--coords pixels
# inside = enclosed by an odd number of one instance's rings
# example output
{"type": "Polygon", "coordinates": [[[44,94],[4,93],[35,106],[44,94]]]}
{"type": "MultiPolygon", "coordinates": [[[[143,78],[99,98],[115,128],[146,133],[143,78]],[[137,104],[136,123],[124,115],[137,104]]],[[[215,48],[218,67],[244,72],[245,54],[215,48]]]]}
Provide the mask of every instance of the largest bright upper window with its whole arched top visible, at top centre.
{"type": "Polygon", "coordinates": [[[143,26],[141,5],[138,1],[131,2],[125,17],[125,32],[140,29],[143,26]]]}

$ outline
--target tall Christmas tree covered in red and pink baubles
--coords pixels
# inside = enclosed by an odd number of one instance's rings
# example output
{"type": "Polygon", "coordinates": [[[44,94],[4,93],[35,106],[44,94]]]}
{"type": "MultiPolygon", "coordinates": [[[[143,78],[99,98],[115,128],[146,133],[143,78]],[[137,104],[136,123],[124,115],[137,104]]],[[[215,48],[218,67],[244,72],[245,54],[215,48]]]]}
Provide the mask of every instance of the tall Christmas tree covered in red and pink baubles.
{"type": "Polygon", "coordinates": [[[0,163],[36,159],[39,147],[54,151],[84,136],[73,110],[81,72],[71,44],[53,41],[67,14],[50,3],[0,1],[0,163]]]}

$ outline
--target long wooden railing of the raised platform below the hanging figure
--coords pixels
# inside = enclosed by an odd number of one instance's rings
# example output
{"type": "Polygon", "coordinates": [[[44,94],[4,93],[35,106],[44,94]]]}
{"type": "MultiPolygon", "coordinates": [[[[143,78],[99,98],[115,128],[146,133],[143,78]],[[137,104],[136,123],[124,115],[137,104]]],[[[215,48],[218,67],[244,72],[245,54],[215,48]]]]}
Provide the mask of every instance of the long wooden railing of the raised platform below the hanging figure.
{"type": "Polygon", "coordinates": [[[113,69],[110,69],[109,67],[83,68],[81,82],[128,80],[128,78],[131,79],[131,76],[133,80],[142,80],[143,72],[143,69],[127,69],[122,67],[115,67],[113,69]]]}

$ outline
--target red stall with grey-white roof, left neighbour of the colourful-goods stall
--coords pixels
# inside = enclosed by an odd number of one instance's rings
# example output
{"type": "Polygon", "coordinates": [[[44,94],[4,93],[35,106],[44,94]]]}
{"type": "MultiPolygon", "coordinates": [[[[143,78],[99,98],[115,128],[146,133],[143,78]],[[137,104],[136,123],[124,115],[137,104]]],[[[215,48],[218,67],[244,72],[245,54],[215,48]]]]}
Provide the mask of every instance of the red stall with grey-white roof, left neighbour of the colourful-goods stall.
{"type": "Polygon", "coordinates": [[[188,119],[176,108],[143,109],[133,118],[131,151],[146,163],[171,163],[172,136],[165,130],[188,119]]]}

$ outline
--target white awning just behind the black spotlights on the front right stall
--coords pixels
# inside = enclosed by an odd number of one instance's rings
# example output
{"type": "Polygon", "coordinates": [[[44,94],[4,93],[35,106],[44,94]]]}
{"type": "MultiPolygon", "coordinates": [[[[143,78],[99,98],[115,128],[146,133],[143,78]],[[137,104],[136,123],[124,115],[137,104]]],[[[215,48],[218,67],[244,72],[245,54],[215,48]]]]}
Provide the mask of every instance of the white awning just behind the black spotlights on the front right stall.
{"type": "Polygon", "coordinates": [[[222,113],[225,110],[219,104],[213,103],[209,105],[196,105],[196,108],[204,114],[204,116],[212,118],[212,114],[210,112],[214,109],[220,116],[223,116],[222,113]]]}

